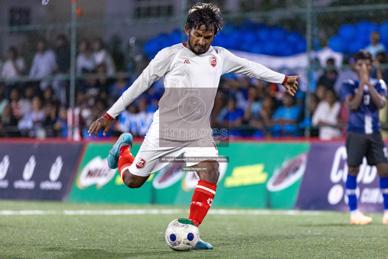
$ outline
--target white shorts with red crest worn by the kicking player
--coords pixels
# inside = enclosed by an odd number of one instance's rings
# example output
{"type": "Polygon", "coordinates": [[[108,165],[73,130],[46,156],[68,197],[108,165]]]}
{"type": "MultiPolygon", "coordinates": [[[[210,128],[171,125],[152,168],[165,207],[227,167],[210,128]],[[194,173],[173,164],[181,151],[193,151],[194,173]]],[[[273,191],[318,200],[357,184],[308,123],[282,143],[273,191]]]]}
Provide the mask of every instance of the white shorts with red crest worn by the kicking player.
{"type": "MultiPolygon", "coordinates": [[[[123,168],[121,171],[129,170],[131,174],[137,176],[149,176],[154,172],[159,171],[170,162],[159,162],[160,157],[178,157],[183,154],[187,157],[202,157],[202,156],[218,156],[217,147],[179,147],[179,148],[160,148],[157,144],[149,141],[145,137],[143,144],[140,146],[139,152],[133,160],[132,165],[123,168]]],[[[186,166],[196,165],[199,162],[186,163],[186,166]]],[[[120,172],[121,173],[121,172],[120,172]]]]}

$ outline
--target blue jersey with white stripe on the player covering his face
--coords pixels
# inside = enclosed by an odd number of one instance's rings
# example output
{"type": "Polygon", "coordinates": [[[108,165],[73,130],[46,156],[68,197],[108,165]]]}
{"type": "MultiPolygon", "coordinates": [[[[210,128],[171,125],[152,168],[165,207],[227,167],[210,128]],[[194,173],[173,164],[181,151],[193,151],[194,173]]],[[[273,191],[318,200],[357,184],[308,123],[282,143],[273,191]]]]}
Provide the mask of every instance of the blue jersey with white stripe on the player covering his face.
{"type": "MultiPolygon", "coordinates": [[[[387,87],[383,80],[370,79],[369,82],[374,86],[379,94],[387,96],[387,87]]],[[[353,96],[359,88],[359,81],[348,80],[342,85],[342,98],[345,99],[349,94],[353,96]]],[[[357,111],[350,109],[348,131],[372,134],[378,132],[380,128],[379,108],[373,103],[369,94],[367,85],[364,85],[364,98],[357,111]]]]}

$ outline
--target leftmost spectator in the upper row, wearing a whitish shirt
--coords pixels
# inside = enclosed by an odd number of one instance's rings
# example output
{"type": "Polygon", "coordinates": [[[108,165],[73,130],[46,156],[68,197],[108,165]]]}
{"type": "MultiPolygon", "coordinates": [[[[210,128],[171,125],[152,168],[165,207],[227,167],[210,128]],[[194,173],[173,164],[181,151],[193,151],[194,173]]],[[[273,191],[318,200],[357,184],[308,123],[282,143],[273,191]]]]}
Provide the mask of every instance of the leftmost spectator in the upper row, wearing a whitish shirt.
{"type": "Polygon", "coordinates": [[[8,50],[8,59],[3,64],[1,70],[1,77],[11,79],[20,76],[25,69],[26,62],[24,62],[24,59],[17,56],[17,49],[15,47],[10,47],[8,50]]]}

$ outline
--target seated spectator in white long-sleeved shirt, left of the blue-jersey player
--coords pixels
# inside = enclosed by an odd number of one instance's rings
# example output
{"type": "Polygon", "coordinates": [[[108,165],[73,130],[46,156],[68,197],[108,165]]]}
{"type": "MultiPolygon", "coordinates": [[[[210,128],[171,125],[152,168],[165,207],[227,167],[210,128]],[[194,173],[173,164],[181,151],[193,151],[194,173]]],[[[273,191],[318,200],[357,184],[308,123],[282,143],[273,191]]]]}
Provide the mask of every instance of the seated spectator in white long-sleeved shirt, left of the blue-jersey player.
{"type": "Polygon", "coordinates": [[[319,139],[330,140],[341,137],[341,130],[338,127],[338,115],[341,104],[336,102],[333,89],[326,90],[326,95],[321,101],[312,116],[312,125],[319,126],[319,139]]]}

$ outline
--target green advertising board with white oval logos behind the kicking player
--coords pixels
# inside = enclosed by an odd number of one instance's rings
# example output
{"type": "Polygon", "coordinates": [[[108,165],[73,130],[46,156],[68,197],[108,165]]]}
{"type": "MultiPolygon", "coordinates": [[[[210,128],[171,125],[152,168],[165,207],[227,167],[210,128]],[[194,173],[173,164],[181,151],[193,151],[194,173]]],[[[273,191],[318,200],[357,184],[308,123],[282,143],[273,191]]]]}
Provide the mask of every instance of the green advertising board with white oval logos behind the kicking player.
{"type": "MultiPolygon", "coordinates": [[[[198,178],[170,163],[139,189],[127,188],[107,167],[112,144],[89,143],[69,197],[71,202],[189,205],[198,178]]],[[[237,142],[218,148],[220,163],[213,206],[292,209],[306,165],[309,143],[237,142]]],[[[137,153],[139,145],[133,145],[137,153]]]]}

